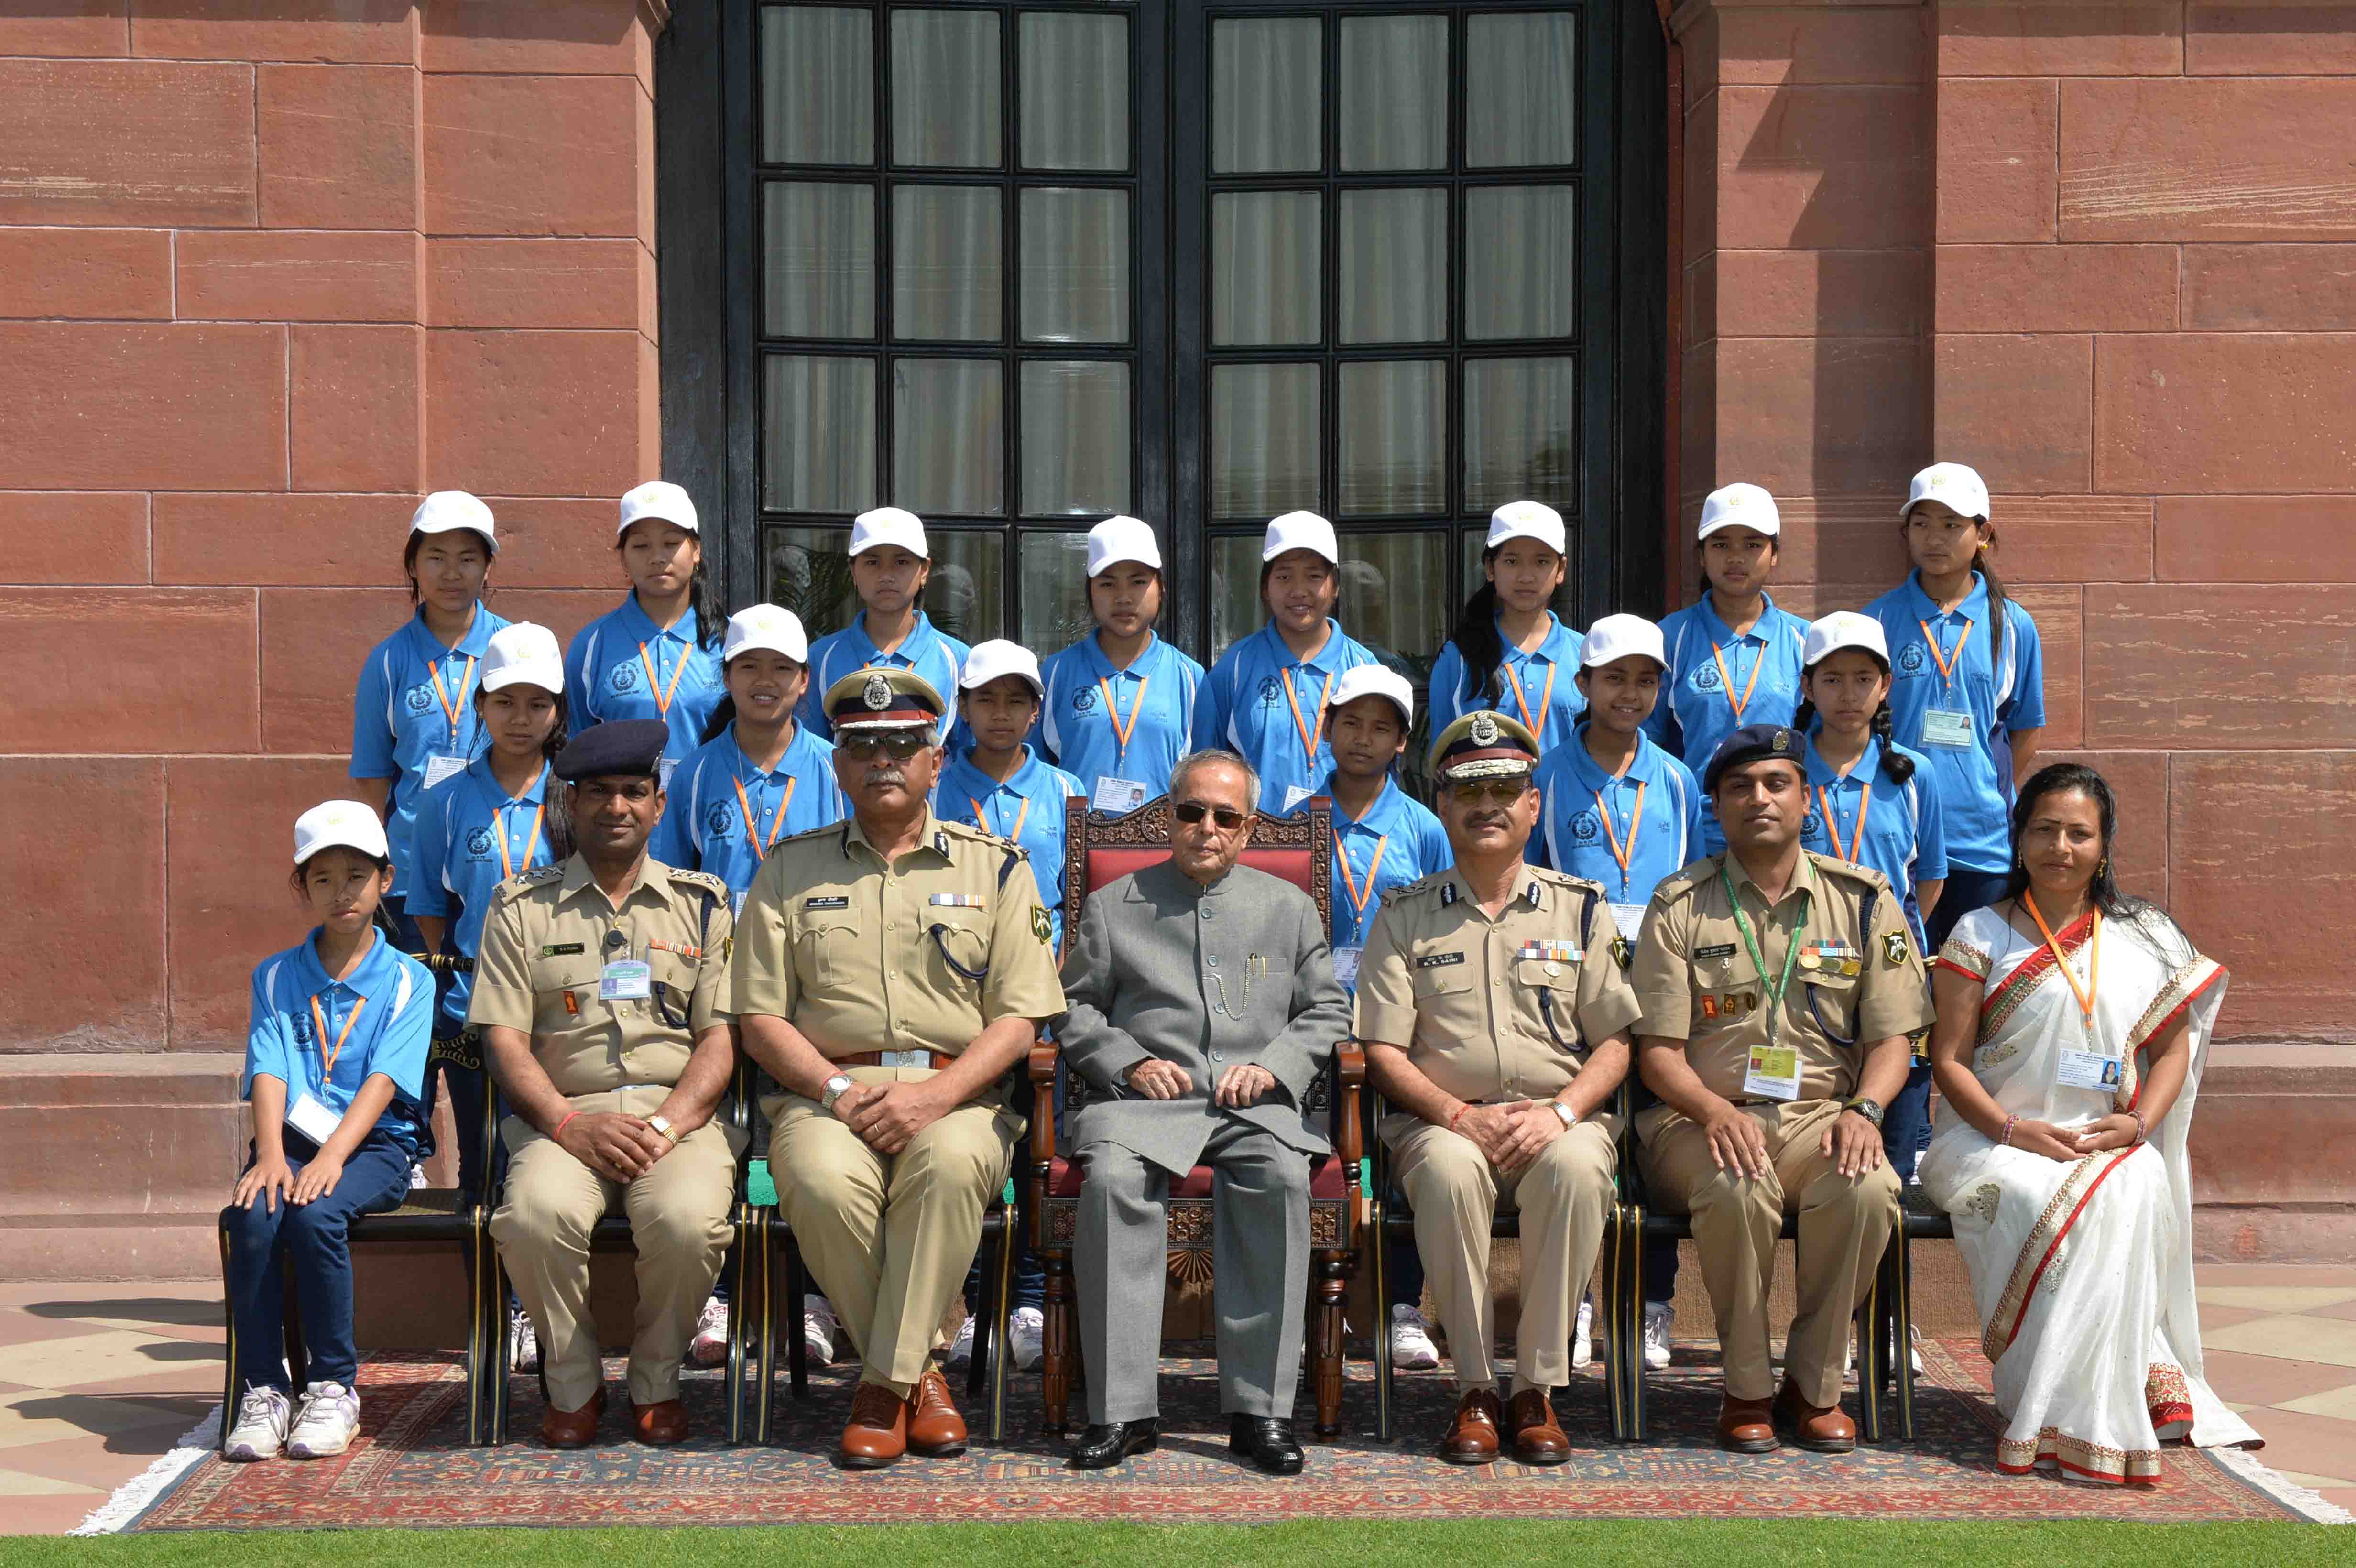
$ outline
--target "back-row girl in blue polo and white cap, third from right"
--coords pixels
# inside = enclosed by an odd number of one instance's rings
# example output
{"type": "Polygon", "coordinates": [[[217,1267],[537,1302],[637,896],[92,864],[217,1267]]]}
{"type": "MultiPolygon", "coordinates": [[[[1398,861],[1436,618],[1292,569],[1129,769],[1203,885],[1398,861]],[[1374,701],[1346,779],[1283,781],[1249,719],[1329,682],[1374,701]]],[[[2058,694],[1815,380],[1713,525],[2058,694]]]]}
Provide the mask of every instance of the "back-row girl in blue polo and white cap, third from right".
{"type": "Polygon", "coordinates": [[[1553,612],[1569,565],[1562,513],[1505,501],[1489,513],[1482,572],[1440,657],[1432,659],[1430,727],[1440,735],[1475,709],[1520,718],[1546,756],[1579,720],[1579,633],[1553,612]]]}

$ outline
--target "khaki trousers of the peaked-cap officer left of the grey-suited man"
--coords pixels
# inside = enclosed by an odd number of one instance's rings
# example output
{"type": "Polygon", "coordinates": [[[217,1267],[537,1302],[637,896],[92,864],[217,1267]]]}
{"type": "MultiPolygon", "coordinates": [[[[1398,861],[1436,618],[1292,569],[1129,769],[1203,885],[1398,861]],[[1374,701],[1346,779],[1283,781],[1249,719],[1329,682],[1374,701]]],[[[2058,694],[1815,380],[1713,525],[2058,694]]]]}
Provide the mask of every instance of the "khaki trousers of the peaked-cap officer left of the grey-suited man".
{"type": "MultiPolygon", "coordinates": [[[[853,1067],[855,1083],[921,1083],[928,1069],[853,1067]]],[[[949,1297],[982,1243],[1023,1121],[973,1099],[876,1154],[815,1099],[766,1095],[768,1175],[801,1257],[860,1347],[860,1382],[907,1398],[949,1297]]]]}

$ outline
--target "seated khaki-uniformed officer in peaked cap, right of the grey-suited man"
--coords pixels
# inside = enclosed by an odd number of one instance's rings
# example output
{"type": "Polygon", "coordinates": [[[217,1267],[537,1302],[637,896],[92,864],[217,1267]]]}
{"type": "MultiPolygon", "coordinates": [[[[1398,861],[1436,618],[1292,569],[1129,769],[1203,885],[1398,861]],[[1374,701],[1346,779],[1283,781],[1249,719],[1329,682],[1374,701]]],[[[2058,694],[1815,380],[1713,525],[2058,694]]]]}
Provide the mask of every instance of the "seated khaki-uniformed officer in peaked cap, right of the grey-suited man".
{"type": "Polygon", "coordinates": [[[1522,862],[1536,765],[1538,739],[1501,713],[1465,713],[1432,742],[1456,864],[1383,895],[1357,979],[1357,1036],[1395,1107],[1381,1135],[1456,1354],[1456,1420],[1440,1446],[1456,1464],[1496,1460],[1501,1427],[1527,1464],[1571,1453],[1548,1391],[1571,1380],[1571,1311],[1619,1165],[1604,1107],[1640,1012],[1604,890],[1522,862]],[[1489,1363],[1498,1198],[1522,1215],[1510,1408],[1489,1363]]]}

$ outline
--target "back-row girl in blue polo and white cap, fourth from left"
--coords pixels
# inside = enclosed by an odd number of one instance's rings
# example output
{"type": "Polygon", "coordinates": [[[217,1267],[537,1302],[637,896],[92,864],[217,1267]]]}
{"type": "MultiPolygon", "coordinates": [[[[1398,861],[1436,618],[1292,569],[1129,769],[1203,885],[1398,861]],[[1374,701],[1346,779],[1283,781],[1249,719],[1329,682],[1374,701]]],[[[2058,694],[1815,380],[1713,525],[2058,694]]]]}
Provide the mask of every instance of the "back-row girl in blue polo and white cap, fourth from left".
{"type": "Polygon", "coordinates": [[[1162,546],[1136,518],[1088,530],[1088,614],[1096,631],[1039,664],[1046,692],[1032,744],[1103,812],[1169,793],[1187,751],[1202,664],[1159,636],[1162,546]]]}

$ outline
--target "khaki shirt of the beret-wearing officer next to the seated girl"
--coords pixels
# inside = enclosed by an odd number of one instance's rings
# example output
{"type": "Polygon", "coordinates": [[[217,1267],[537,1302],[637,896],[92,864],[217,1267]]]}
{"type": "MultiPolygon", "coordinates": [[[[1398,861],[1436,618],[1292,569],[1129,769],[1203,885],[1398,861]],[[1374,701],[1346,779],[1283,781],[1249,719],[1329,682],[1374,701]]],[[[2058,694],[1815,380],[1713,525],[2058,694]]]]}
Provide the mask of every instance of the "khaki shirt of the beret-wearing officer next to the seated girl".
{"type": "Polygon", "coordinates": [[[580,855],[499,883],[474,958],[476,1029],[523,1029],[558,1095],[627,1083],[674,1085],[695,1036],[728,1022],[728,885],[660,859],[638,866],[622,906],[580,855]],[[620,932],[622,942],[608,944],[620,932]],[[598,1001],[608,958],[641,958],[653,996],[598,1001]]]}

